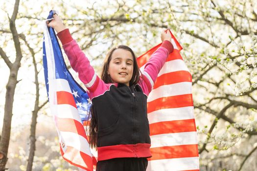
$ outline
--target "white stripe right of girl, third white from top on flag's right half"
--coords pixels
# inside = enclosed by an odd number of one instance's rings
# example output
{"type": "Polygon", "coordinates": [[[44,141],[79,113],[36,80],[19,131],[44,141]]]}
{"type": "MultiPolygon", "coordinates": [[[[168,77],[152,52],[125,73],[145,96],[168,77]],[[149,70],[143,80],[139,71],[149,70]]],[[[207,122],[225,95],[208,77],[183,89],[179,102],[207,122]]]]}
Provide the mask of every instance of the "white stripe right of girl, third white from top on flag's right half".
{"type": "Polygon", "coordinates": [[[194,119],[193,107],[165,108],[147,114],[149,124],[194,119]]]}

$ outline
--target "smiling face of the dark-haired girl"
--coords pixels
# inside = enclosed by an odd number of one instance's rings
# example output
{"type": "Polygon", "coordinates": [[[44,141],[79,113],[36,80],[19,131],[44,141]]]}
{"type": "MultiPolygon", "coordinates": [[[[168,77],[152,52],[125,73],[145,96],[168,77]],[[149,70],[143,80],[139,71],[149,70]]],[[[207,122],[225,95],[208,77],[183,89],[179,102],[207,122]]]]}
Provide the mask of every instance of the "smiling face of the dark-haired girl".
{"type": "Polygon", "coordinates": [[[122,83],[129,86],[133,75],[134,60],[130,51],[116,49],[111,57],[108,74],[114,83],[122,83]]]}

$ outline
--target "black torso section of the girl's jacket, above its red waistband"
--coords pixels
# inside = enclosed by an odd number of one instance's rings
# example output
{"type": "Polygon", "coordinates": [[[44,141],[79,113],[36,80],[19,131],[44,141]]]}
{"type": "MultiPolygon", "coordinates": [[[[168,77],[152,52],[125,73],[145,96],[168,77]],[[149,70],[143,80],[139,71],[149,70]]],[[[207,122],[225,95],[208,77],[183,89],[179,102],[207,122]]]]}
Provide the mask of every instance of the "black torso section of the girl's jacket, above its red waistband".
{"type": "Polygon", "coordinates": [[[140,85],[129,87],[124,84],[111,85],[103,95],[94,97],[97,147],[150,144],[146,100],[140,85]]]}

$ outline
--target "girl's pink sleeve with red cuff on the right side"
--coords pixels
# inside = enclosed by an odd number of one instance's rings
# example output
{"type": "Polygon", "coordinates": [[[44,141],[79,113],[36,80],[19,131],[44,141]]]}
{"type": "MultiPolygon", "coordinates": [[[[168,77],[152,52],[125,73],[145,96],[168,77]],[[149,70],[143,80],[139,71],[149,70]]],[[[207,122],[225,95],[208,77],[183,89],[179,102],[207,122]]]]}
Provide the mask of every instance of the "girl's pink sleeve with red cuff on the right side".
{"type": "Polygon", "coordinates": [[[164,66],[168,55],[173,51],[173,49],[172,43],[164,41],[145,64],[139,84],[141,85],[144,94],[147,96],[151,92],[160,70],[164,66]]]}

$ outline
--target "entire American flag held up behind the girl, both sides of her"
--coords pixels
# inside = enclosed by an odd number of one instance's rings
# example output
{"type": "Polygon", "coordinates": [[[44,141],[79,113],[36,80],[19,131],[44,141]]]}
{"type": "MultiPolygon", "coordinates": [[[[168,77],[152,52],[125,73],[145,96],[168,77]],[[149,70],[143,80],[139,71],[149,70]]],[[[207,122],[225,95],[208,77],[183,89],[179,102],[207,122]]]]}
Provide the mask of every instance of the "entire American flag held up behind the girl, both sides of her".
{"type": "MultiPolygon", "coordinates": [[[[52,15],[50,11],[47,19],[52,15]]],[[[152,154],[147,171],[199,171],[192,78],[180,55],[182,47],[173,35],[172,44],[174,51],[168,56],[147,100],[152,154]]],[[[160,45],[138,58],[140,69],[160,45]]],[[[56,34],[46,23],[43,64],[61,154],[79,170],[93,171],[97,157],[92,154],[94,150],[90,149],[83,127],[83,122],[89,119],[91,102],[67,69],[56,34]]]]}

